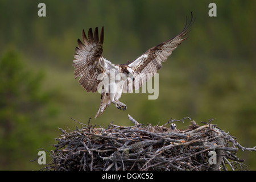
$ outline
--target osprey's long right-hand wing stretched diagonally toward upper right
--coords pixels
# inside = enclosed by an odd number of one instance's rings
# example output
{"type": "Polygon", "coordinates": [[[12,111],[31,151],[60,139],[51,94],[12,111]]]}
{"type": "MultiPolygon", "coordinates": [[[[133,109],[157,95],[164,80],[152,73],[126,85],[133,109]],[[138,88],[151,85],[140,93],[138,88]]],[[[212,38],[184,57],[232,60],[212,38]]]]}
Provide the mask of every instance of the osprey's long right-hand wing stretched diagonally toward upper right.
{"type": "Polygon", "coordinates": [[[191,21],[188,23],[186,21],[185,27],[180,34],[176,35],[174,38],[159,44],[158,46],[152,47],[144,52],[137,59],[127,65],[133,69],[135,72],[133,86],[127,86],[127,92],[133,92],[133,89],[137,90],[143,85],[144,82],[149,80],[154,74],[162,68],[162,62],[167,60],[167,57],[171,55],[177,46],[183,42],[185,35],[190,31],[193,20],[193,15],[191,13],[191,21]]]}

